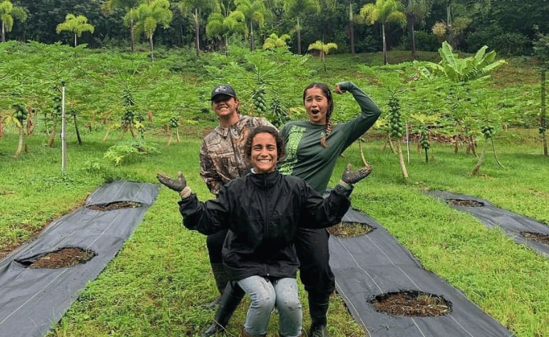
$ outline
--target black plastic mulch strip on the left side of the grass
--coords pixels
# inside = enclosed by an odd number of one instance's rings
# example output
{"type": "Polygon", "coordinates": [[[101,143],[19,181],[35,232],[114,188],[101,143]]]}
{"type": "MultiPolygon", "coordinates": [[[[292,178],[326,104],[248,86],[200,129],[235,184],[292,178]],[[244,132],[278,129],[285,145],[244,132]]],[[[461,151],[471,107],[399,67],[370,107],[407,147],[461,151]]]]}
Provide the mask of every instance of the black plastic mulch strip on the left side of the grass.
{"type": "Polygon", "coordinates": [[[117,181],[98,187],[76,209],[46,227],[0,261],[0,336],[44,336],[66,312],[86,282],[96,279],[156,199],[160,185],[117,181]],[[93,210],[125,202],[130,207],[93,210]],[[28,268],[25,261],[63,247],[91,250],[83,264],[60,269],[28,268]]]}

